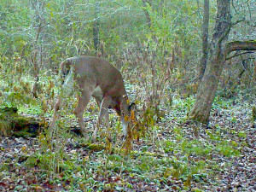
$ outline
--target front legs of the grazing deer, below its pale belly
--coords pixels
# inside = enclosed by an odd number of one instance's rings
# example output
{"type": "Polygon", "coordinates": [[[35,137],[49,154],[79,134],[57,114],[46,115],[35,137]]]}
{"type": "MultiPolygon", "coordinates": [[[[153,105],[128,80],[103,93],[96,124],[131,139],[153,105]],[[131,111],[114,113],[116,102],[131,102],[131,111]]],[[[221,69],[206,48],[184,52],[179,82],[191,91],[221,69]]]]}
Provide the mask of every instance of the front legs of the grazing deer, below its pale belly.
{"type": "MultiPolygon", "coordinates": [[[[103,118],[105,118],[105,125],[106,125],[107,131],[108,131],[108,128],[109,128],[108,107],[110,105],[110,102],[111,102],[111,98],[109,96],[105,96],[102,99],[102,103],[100,106],[100,113],[99,113],[99,117],[98,117],[97,124],[96,124],[96,129],[93,132],[93,136],[92,136],[92,142],[96,142],[97,132],[99,131],[99,127],[102,124],[103,118]]],[[[108,132],[108,137],[109,137],[109,132],[108,132]]]]}

